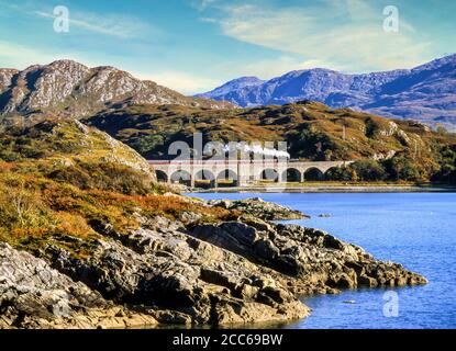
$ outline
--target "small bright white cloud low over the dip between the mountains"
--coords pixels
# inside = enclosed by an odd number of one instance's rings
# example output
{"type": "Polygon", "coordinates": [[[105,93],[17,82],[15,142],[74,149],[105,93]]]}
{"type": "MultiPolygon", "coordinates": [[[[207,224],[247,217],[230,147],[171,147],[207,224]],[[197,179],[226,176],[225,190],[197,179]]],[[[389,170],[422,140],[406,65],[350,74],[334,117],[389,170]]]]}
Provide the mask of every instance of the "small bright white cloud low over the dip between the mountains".
{"type": "Polygon", "coordinates": [[[182,71],[171,70],[137,76],[141,79],[153,80],[160,86],[165,86],[186,95],[192,95],[202,91],[208,91],[220,82],[211,78],[204,78],[182,71]]]}

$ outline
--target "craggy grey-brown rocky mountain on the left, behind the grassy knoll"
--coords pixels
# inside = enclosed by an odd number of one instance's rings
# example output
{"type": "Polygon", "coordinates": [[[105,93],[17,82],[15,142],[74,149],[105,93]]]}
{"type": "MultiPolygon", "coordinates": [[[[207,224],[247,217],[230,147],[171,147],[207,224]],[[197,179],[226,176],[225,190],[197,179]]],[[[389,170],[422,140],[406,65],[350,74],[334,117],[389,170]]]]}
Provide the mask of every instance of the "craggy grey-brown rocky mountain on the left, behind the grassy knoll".
{"type": "Polygon", "coordinates": [[[114,67],[89,68],[73,60],[0,69],[0,118],[34,114],[80,117],[107,106],[167,104],[220,109],[229,103],[185,97],[114,67]]]}

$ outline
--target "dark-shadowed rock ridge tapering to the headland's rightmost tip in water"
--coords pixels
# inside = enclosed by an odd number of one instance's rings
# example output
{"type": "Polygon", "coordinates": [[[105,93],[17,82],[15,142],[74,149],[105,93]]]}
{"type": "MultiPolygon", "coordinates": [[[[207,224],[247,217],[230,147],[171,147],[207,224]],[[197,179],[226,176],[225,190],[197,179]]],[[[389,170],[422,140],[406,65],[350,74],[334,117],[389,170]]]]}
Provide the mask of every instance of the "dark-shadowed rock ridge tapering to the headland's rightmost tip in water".
{"type": "MultiPolygon", "coordinates": [[[[259,219],[256,222],[262,223],[259,219]]],[[[423,276],[400,264],[375,260],[357,246],[322,230],[297,225],[268,224],[254,227],[227,222],[196,226],[191,235],[227,248],[252,262],[296,276],[307,285],[307,294],[321,292],[322,286],[354,288],[426,283],[423,276]],[[240,233],[245,233],[245,236],[241,237],[240,233]]]]}

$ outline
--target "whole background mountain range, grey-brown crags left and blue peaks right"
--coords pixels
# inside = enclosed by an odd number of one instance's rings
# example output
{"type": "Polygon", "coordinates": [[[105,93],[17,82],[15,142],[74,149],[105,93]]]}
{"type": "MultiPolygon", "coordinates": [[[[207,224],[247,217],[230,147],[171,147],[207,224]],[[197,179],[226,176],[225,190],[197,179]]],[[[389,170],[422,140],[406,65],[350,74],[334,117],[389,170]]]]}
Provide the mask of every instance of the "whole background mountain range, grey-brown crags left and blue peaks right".
{"type": "Polygon", "coordinates": [[[185,97],[114,67],[73,60],[0,69],[0,118],[58,115],[84,118],[132,105],[177,104],[200,109],[255,107],[318,101],[390,118],[456,129],[456,55],[413,69],[345,75],[315,68],[270,80],[234,79],[211,92],[185,97]]]}

